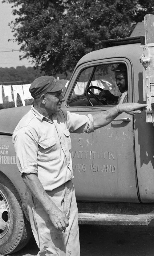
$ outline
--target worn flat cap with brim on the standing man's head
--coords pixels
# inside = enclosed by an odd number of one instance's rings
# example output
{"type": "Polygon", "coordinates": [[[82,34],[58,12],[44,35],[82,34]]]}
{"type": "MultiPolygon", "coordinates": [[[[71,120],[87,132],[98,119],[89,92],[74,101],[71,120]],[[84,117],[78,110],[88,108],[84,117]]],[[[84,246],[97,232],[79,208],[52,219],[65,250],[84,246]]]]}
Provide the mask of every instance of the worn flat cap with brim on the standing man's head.
{"type": "Polygon", "coordinates": [[[57,80],[55,77],[42,76],[32,82],[29,91],[31,96],[36,99],[42,94],[62,90],[66,83],[67,80],[57,80]]]}

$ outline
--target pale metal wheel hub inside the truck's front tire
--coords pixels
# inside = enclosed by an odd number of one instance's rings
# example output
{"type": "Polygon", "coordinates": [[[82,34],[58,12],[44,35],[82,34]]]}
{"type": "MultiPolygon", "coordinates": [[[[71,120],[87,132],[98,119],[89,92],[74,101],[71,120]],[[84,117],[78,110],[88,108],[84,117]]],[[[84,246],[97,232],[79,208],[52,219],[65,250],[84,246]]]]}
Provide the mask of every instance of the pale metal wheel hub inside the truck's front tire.
{"type": "Polygon", "coordinates": [[[6,235],[10,227],[9,205],[5,196],[0,191],[0,239],[6,235]]]}

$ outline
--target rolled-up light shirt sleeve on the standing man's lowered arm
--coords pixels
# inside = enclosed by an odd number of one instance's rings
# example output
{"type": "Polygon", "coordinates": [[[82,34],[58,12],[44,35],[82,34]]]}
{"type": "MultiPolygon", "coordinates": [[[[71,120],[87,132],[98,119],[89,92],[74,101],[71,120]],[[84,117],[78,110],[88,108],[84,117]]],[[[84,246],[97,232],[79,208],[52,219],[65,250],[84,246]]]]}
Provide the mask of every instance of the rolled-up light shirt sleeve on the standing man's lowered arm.
{"type": "Polygon", "coordinates": [[[19,172],[22,174],[34,173],[38,175],[37,136],[27,127],[22,127],[13,134],[13,143],[19,172]]]}

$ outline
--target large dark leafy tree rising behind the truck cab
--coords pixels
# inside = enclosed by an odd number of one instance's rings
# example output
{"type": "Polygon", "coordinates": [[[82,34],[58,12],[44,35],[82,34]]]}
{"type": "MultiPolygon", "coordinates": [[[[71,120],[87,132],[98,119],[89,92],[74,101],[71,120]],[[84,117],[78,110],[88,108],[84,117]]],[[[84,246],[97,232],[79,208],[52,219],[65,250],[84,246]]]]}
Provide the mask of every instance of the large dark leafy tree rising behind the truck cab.
{"type": "Polygon", "coordinates": [[[153,0],[4,0],[18,15],[10,26],[15,40],[48,75],[72,71],[95,42],[128,37],[153,0]]]}

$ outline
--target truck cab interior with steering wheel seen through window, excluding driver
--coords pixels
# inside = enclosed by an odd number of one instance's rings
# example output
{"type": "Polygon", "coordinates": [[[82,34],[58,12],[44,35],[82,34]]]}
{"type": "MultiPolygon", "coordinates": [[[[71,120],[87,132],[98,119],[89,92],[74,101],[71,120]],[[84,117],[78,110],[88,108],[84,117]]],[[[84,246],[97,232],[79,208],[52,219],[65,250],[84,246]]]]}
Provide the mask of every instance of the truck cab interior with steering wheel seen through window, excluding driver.
{"type": "Polygon", "coordinates": [[[100,97],[100,92],[108,90],[117,98],[120,96],[121,93],[115,79],[115,69],[119,64],[95,65],[83,69],[75,82],[68,105],[70,107],[115,105],[115,101],[100,97]]]}

